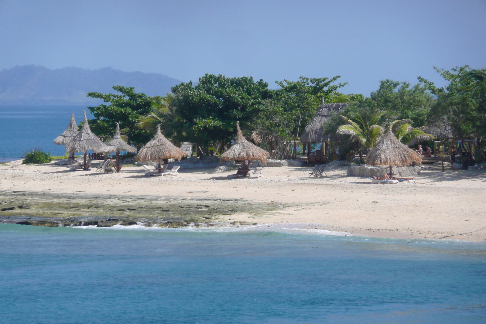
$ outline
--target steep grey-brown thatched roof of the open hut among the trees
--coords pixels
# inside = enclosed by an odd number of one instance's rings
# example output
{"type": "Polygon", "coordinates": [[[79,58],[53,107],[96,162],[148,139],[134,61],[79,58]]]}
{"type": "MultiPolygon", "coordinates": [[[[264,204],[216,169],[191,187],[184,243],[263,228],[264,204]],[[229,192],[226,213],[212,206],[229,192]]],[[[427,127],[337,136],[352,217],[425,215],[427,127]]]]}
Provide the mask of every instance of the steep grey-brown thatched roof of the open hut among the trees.
{"type": "Polygon", "coordinates": [[[347,103],[323,103],[317,108],[314,118],[304,129],[300,136],[302,143],[320,143],[330,140],[328,135],[322,133],[322,126],[329,121],[332,113],[341,113],[347,107],[347,103]]]}

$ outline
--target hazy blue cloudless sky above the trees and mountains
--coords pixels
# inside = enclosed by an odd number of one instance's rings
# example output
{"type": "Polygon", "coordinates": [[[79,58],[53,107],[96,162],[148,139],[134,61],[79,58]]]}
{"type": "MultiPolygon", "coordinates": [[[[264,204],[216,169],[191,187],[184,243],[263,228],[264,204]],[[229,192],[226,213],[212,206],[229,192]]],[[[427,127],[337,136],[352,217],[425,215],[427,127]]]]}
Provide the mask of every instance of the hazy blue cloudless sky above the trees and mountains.
{"type": "Polygon", "coordinates": [[[0,68],[35,64],[444,85],[433,66],[486,67],[486,1],[1,1],[0,68]]]}

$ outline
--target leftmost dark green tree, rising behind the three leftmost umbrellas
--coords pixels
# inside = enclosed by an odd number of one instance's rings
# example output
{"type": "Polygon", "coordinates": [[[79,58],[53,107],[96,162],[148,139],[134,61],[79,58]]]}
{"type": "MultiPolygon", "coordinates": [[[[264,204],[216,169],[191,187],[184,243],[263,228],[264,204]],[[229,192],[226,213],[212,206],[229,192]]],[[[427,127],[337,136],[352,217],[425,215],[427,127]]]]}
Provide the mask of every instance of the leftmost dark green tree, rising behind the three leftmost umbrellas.
{"type": "Polygon", "coordinates": [[[129,143],[139,149],[152,137],[150,131],[137,127],[140,115],[147,115],[152,111],[151,98],[143,93],[136,93],[134,87],[114,85],[113,89],[121,94],[87,93],[87,97],[109,103],[88,107],[95,118],[89,120],[91,131],[102,139],[108,139],[115,133],[116,123],[120,122],[121,132],[128,137],[129,143]]]}

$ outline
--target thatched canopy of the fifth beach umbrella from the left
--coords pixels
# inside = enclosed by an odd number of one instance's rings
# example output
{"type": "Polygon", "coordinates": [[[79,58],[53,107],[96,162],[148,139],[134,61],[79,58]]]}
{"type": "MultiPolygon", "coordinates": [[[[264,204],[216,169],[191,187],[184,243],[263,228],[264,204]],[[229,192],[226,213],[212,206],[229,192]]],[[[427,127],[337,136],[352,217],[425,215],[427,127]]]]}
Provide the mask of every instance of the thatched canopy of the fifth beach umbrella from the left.
{"type": "Polygon", "coordinates": [[[225,153],[221,155],[221,158],[225,161],[242,161],[242,160],[260,160],[262,163],[267,161],[267,151],[253,145],[248,142],[242,134],[240,129],[240,122],[236,122],[237,136],[233,142],[233,145],[225,153]]]}

